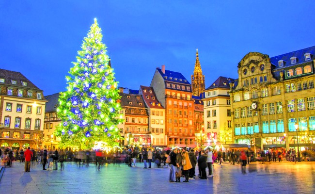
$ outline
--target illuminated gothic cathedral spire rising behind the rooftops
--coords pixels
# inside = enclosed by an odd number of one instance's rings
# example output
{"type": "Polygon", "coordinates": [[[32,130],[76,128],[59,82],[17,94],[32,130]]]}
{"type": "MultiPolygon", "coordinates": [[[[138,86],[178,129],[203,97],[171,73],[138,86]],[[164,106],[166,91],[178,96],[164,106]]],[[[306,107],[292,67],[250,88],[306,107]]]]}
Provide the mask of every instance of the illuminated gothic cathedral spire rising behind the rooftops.
{"type": "Polygon", "coordinates": [[[191,88],[192,88],[192,95],[198,96],[198,97],[205,90],[205,76],[203,75],[203,71],[201,70],[201,66],[200,66],[200,62],[198,58],[198,49],[196,51],[195,68],[193,70],[193,75],[191,75],[191,88]]]}

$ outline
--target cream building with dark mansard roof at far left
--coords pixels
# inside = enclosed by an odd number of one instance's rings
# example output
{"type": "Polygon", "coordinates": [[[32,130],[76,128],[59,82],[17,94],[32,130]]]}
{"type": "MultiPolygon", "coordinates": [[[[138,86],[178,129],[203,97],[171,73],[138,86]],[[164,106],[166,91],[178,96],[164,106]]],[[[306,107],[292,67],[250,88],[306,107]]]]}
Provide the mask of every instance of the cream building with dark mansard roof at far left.
{"type": "Polygon", "coordinates": [[[0,146],[42,146],[46,99],[20,72],[0,69],[0,146]]]}

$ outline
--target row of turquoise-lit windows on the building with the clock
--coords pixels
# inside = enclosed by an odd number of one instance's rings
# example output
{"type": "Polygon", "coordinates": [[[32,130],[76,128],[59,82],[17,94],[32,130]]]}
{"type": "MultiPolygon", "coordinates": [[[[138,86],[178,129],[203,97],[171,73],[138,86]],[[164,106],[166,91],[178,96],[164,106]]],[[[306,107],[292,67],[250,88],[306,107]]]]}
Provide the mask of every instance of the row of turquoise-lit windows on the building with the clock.
{"type": "MultiPolygon", "coordinates": [[[[297,123],[296,118],[289,118],[288,119],[288,129],[290,132],[296,131],[295,124],[297,123]]],[[[278,119],[270,120],[270,121],[263,121],[262,123],[262,132],[263,133],[277,133],[277,132],[284,132],[284,120],[278,119]]],[[[315,130],[315,116],[310,116],[309,120],[307,121],[306,117],[299,117],[299,131],[306,131],[315,130]]],[[[259,133],[259,125],[258,122],[254,123],[236,123],[235,124],[235,135],[246,135],[246,134],[253,134],[259,133]]]]}

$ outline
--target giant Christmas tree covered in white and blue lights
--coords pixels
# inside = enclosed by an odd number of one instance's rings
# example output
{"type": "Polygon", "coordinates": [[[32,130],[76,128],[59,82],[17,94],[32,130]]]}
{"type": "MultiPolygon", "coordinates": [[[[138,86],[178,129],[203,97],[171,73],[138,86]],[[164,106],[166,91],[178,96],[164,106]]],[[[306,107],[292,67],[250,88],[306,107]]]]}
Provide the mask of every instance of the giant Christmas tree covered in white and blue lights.
{"type": "Polygon", "coordinates": [[[59,97],[62,123],[55,135],[61,137],[62,147],[86,148],[96,141],[114,146],[120,138],[117,125],[123,122],[120,96],[96,19],[81,49],[66,76],[67,91],[59,97]]]}

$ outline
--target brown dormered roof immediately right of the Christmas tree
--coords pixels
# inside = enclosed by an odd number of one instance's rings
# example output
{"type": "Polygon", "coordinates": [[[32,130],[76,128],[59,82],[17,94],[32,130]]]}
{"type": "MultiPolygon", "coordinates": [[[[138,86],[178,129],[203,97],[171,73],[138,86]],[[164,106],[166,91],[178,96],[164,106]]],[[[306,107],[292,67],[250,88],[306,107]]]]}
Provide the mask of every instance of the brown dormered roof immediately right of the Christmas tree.
{"type": "Polygon", "coordinates": [[[120,104],[122,107],[146,108],[141,95],[125,94],[122,92],[120,92],[119,95],[121,96],[120,104]]]}

